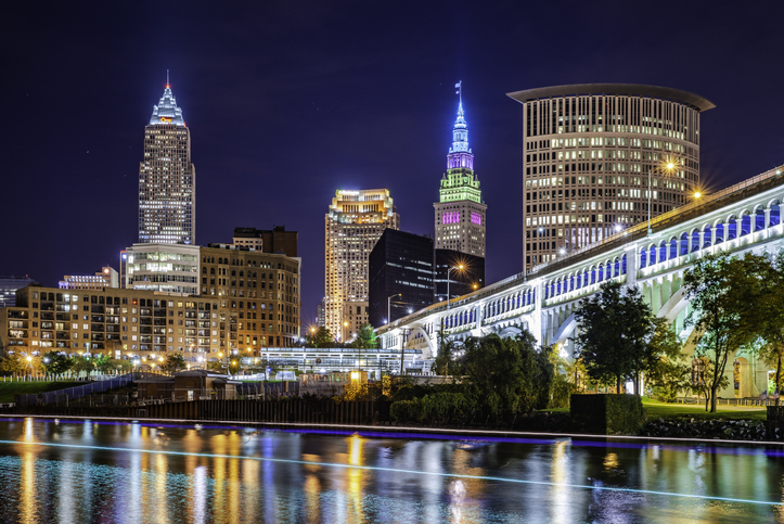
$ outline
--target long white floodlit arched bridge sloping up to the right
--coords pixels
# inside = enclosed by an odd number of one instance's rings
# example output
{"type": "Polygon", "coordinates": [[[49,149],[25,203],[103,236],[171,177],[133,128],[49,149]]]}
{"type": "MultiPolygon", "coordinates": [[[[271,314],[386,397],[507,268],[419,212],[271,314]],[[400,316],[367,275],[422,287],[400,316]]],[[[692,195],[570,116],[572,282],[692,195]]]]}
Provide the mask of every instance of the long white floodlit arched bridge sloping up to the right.
{"type": "MultiPolygon", "coordinates": [[[[403,317],[378,329],[382,345],[398,350],[404,345],[422,350],[424,358],[434,358],[439,332],[460,341],[528,329],[540,344],[558,344],[571,354],[574,311],[607,280],[640,287],[654,312],[667,318],[687,340],[691,333],[684,323],[690,306],[681,284],[694,260],[707,253],[775,253],[784,247],[783,174],[784,166],[780,166],[659,215],[651,221],[651,235],[647,222],[642,222],[527,274],[514,274],[449,304],[435,304],[403,317]]],[[[693,347],[687,344],[690,350],[693,347]]],[[[738,355],[747,367],[744,396],[756,395],[767,384],[767,369],[759,366],[757,370],[756,361],[748,357],[738,355]]]]}

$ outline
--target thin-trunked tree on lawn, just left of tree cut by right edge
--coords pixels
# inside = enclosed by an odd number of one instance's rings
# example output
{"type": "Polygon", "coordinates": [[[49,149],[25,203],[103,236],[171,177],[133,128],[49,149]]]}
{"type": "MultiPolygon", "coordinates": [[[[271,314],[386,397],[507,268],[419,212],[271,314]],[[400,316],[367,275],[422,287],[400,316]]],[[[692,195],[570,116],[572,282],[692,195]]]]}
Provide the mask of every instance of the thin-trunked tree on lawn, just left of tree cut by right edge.
{"type": "Polygon", "coordinates": [[[685,296],[694,308],[686,323],[694,325],[695,353],[710,363],[706,367],[705,381],[711,412],[716,412],[716,398],[725,380],[730,355],[755,336],[749,322],[751,308],[745,301],[748,287],[756,289],[757,282],[746,270],[742,260],[721,253],[697,259],[683,276],[685,296]]]}

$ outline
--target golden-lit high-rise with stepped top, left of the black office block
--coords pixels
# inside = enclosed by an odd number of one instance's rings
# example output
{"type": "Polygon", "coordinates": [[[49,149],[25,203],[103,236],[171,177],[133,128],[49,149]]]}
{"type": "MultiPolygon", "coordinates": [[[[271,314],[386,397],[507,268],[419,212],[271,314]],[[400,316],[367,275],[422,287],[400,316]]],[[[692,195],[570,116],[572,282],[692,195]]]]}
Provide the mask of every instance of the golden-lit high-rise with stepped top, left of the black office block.
{"type": "Polygon", "coordinates": [[[368,323],[368,256],[400,217],[389,190],[338,190],[324,217],[324,315],[326,329],[346,341],[368,323]]]}

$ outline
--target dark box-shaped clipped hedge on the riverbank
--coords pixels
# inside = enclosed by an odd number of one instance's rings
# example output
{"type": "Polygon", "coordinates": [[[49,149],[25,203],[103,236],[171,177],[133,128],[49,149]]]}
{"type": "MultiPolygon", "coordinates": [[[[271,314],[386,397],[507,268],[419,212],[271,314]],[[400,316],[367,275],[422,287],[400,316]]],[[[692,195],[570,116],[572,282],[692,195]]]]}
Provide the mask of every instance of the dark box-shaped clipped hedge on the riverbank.
{"type": "Polygon", "coordinates": [[[637,435],[645,423],[638,395],[571,395],[575,431],[602,435],[637,435]]]}

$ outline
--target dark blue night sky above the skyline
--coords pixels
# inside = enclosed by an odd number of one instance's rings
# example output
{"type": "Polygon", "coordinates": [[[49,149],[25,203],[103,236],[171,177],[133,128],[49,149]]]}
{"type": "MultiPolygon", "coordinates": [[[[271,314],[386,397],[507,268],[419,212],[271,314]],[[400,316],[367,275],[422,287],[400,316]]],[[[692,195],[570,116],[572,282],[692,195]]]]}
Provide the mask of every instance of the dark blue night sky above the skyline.
{"type": "Polygon", "coordinates": [[[144,126],[170,69],[196,241],[299,231],[303,322],[337,189],[389,188],[433,234],[458,97],[488,205],[487,281],[522,269],[522,111],[505,93],[635,82],[701,94],[709,190],[784,163],[781,2],[13,2],[2,39],[0,274],[56,285],[138,239],[144,126]],[[139,4],[139,5],[137,5],[139,4]]]}

